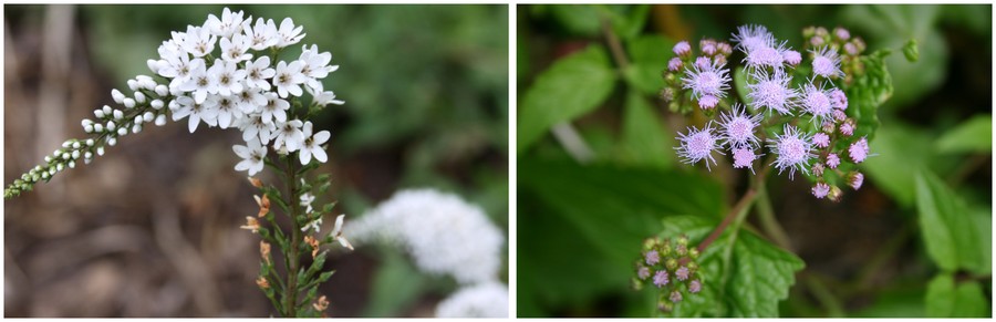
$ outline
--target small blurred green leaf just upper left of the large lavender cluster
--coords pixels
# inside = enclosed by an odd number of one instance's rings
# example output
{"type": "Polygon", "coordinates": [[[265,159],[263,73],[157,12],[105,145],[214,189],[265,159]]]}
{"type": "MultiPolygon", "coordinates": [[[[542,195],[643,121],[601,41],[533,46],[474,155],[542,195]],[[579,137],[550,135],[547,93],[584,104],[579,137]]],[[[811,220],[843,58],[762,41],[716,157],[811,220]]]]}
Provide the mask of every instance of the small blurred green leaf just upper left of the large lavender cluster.
{"type": "Polygon", "coordinates": [[[644,34],[626,43],[630,67],[625,71],[626,82],[644,95],[657,96],[664,86],[661,74],[667,71],[667,60],[674,54],[674,41],[657,34],[644,34]]]}

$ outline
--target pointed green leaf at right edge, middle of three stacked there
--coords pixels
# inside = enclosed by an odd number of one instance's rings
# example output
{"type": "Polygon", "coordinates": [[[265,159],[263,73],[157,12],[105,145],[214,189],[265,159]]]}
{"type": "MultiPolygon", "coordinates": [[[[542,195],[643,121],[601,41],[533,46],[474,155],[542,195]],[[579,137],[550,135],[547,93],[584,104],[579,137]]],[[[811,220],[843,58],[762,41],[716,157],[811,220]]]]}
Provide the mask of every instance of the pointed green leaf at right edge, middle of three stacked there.
{"type": "Polygon", "coordinates": [[[938,267],[948,272],[992,271],[992,253],[978,247],[992,240],[992,231],[976,229],[965,201],[931,172],[916,175],[916,208],[927,255],[938,267]]]}

